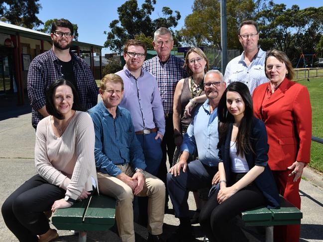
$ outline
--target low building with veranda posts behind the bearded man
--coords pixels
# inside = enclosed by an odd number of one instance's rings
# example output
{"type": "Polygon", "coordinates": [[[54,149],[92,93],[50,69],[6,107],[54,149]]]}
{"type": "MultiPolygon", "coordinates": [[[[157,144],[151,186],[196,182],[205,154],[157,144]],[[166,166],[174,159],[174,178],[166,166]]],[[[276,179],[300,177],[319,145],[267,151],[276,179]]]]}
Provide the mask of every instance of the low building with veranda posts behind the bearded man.
{"type": "MultiPolygon", "coordinates": [[[[24,104],[29,64],[50,48],[50,34],[0,21],[0,96],[12,96],[13,102],[24,104]]],[[[73,41],[70,49],[79,56],[89,53],[93,75],[102,79],[102,48],[100,45],[73,41]],[[94,53],[100,56],[100,68],[95,68],[94,53]]]]}

